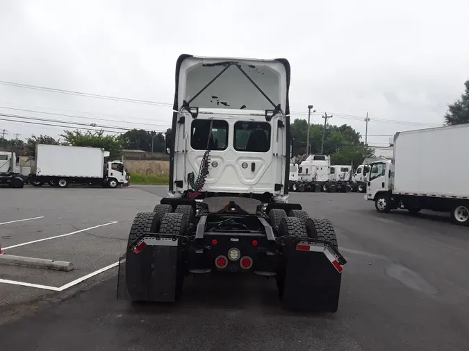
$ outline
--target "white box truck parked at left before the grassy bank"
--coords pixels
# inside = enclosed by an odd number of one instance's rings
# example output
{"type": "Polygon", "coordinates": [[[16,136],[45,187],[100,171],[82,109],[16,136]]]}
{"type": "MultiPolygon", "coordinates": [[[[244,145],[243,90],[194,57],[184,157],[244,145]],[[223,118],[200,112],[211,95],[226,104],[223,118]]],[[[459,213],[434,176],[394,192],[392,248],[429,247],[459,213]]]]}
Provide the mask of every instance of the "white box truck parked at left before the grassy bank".
{"type": "Polygon", "coordinates": [[[124,164],[105,162],[108,156],[108,151],[101,148],[38,144],[36,170],[29,181],[36,187],[44,183],[62,188],[71,183],[111,188],[127,185],[124,164]]]}

